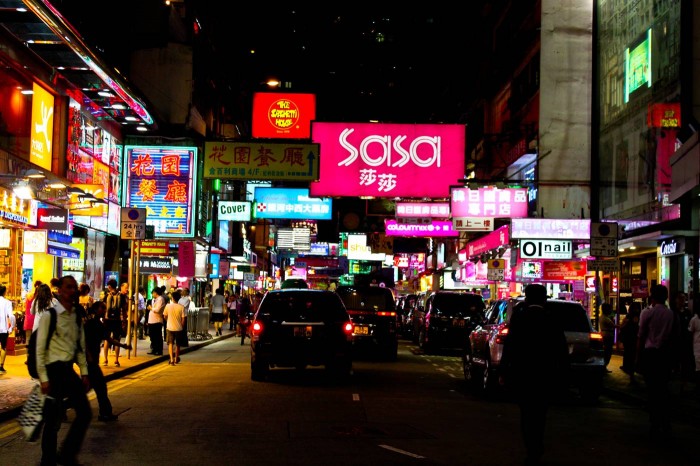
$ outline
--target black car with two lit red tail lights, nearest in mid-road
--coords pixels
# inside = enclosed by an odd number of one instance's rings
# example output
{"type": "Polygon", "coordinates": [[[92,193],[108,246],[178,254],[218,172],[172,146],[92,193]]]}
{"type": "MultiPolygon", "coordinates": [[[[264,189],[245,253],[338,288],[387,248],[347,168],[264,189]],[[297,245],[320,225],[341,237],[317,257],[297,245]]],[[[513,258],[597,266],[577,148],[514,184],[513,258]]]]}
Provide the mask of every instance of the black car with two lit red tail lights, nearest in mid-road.
{"type": "Polygon", "coordinates": [[[326,290],[268,291],[250,326],[250,370],[263,380],[270,368],[325,366],[352,373],[352,321],[338,295],[326,290]]]}

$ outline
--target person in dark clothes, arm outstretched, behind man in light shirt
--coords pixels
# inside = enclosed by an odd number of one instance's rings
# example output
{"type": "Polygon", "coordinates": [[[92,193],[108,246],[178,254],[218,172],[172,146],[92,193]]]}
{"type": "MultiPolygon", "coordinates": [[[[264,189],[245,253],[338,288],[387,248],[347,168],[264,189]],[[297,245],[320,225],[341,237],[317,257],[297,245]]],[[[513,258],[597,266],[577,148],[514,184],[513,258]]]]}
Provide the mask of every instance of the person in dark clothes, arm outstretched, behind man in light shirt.
{"type": "Polygon", "coordinates": [[[131,349],[126,343],[121,343],[110,337],[107,327],[103,322],[103,318],[107,313],[107,304],[104,301],[95,301],[88,308],[85,324],[85,359],[88,365],[88,377],[90,379],[90,387],[95,390],[95,397],[99,411],[97,420],[102,422],[116,421],[118,416],[112,412],[112,403],[107,395],[107,381],[105,380],[102,369],[100,368],[100,349],[102,348],[102,340],[106,339],[114,346],[120,346],[124,349],[131,349]]]}

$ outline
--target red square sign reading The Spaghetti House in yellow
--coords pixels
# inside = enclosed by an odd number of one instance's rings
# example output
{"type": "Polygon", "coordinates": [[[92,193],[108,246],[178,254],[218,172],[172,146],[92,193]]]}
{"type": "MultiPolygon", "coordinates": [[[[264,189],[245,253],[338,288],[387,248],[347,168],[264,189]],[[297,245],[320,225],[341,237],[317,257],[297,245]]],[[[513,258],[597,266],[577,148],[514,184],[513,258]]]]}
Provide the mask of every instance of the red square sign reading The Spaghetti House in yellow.
{"type": "Polygon", "coordinates": [[[314,94],[253,94],[253,137],[308,139],[316,119],[314,94]]]}

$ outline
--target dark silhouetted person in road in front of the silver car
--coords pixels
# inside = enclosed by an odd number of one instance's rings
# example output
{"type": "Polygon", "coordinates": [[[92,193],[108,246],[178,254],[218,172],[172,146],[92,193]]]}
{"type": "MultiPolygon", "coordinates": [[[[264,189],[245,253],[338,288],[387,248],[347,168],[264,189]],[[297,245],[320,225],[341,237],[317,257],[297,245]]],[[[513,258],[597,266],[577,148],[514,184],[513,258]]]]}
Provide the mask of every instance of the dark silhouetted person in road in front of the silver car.
{"type": "Polygon", "coordinates": [[[503,344],[501,378],[520,407],[526,464],[544,454],[544,431],[550,400],[568,386],[569,351],[559,319],[545,309],[547,288],[531,284],[516,307],[503,344]],[[537,336],[533,338],[533,336],[537,336]]]}

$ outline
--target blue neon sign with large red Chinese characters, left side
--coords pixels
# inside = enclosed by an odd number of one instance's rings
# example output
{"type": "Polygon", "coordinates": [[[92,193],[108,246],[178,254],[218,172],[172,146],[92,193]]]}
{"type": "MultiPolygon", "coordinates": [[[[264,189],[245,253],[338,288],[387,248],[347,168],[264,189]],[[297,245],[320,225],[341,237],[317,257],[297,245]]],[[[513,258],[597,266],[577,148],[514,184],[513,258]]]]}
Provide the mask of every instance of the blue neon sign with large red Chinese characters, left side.
{"type": "Polygon", "coordinates": [[[194,236],[196,160],[196,147],[125,147],[125,205],[146,209],[156,237],[194,236]]]}

